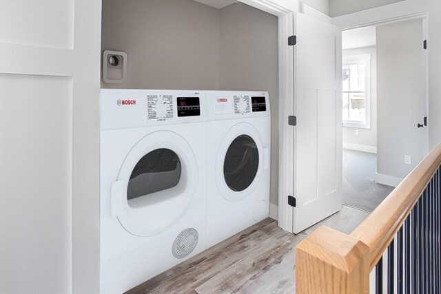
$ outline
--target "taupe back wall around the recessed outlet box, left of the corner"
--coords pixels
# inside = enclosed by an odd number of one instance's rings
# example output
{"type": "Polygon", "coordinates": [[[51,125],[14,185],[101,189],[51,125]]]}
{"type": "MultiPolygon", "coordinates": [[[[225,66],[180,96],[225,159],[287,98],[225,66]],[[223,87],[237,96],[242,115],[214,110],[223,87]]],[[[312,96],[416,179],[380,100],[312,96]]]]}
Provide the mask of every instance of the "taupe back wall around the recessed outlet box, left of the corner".
{"type": "Polygon", "coordinates": [[[218,31],[219,10],[196,1],[103,0],[101,51],[126,52],[127,75],[101,87],[216,90],[218,31]]]}

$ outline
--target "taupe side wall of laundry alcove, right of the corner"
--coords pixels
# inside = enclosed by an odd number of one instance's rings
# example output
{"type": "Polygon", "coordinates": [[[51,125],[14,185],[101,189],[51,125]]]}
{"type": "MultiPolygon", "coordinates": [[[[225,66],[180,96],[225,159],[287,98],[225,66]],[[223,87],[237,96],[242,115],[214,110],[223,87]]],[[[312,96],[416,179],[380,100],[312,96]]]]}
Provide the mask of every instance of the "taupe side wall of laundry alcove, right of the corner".
{"type": "Polygon", "coordinates": [[[220,10],[219,32],[219,89],[269,92],[270,202],[278,204],[278,18],[236,3],[220,10]]]}

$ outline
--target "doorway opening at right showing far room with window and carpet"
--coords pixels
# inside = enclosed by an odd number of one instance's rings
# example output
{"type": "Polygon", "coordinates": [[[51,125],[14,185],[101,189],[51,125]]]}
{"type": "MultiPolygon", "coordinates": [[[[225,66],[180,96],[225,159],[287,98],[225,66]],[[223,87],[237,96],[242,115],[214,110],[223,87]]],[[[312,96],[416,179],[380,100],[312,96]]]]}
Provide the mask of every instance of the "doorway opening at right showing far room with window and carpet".
{"type": "Polygon", "coordinates": [[[424,28],[420,17],[342,32],[343,204],[373,211],[427,154],[424,28]]]}

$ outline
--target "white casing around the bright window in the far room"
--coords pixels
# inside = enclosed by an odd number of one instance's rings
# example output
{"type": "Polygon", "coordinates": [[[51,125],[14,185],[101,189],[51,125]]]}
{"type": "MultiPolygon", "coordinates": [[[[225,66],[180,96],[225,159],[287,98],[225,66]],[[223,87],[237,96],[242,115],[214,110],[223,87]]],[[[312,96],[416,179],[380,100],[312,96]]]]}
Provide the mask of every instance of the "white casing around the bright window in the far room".
{"type": "Polygon", "coordinates": [[[362,145],[367,149],[377,147],[377,56],[375,46],[365,48],[353,48],[342,51],[343,60],[345,56],[371,54],[371,128],[363,129],[356,127],[343,127],[343,147],[345,145],[362,145]],[[355,131],[358,130],[358,136],[355,131]],[[346,143],[346,144],[345,144],[346,143]]]}

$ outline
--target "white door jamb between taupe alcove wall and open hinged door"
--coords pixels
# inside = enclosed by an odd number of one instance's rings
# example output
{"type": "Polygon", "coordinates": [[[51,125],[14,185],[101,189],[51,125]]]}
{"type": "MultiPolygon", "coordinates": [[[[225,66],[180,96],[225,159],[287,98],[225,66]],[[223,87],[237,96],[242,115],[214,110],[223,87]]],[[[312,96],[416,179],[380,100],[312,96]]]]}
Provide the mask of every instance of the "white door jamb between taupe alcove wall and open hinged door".
{"type": "Polygon", "coordinates": [[[288,36],[294,34],[293,14],[298,10],[298,1],[285,3],[287,8],[275,0],[238,1],[278,17],[278,226],[292,232],[293,214],[287,199],[293,193],[294,178],[287,176],[294,174],[294,165],[283,162],[294,162],[294,152],[289,149],[294,146],[294,128],[287,128],[288,116],[294,115],[294,46],[288,46],[288,36]]]}

